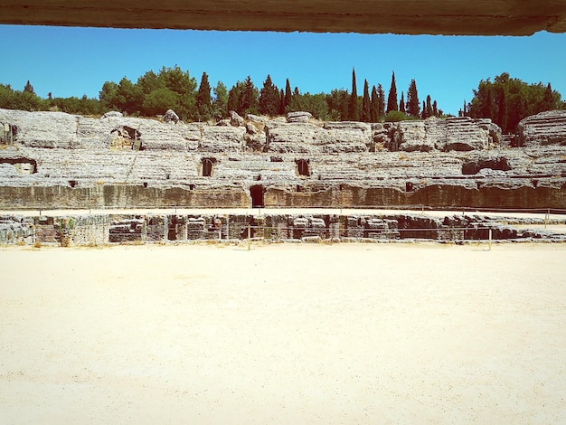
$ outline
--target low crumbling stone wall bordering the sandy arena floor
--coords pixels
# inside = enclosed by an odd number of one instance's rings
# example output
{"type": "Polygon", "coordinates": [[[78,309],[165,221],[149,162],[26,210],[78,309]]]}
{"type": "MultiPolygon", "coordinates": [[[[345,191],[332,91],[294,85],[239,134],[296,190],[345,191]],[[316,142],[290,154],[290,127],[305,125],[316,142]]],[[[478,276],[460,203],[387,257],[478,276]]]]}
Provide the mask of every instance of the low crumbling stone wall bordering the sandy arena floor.
{"type": "MultiPolygon", "coordinates": [[[[541,220],[488,214],[87,214],[0,216],[0,244],[95,246],[108,243],[188,241],[566,241],[566,232],[525,230],[512,224],[541,220]],[[511,224],[510,224],[511,223],[511,224]]],[[[562,221],[564,223],[564,221],[562,221]]]]}

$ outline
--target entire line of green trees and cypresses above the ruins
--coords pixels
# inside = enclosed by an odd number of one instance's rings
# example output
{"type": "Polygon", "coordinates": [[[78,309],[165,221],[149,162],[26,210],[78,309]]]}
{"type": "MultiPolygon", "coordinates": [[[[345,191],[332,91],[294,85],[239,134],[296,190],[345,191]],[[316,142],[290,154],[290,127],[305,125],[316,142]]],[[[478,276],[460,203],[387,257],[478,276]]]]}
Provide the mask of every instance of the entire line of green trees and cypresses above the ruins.
{"type": "MultiPolygon", "coordinates": [[[[324,120],[351,120],[364,122],[400,121],[442,117],[437,101],[427,95],[419,99],[416,81],[410,80],[408,90],[398,96],[395,72],[387,98],[382,84],[370,85],[363,81],[362,95],[358,95],[355,70],[352,70],[351,90],[335,89],[330,93],[301,93],[291,90],[289,80],[285,88],[278,88],[268,75],[259,89],[250,76],[237,81],[230,90],[219,81],[211,87],[208,74],[203,72],[200,83],[189,71],[175,65],[160,71],[147,71],[136,82],[127,77],[117,82],[106,81],[98,99],[53,98],[37,96],[30,81],[24,90],[14,90],[0,84],[0,108],[23,110],[60,110],[80,115],[102,115],[108,110],[119,110],[128,116],[153,117],[174,109],[184,121],[208,121],[228,116],[230,110],[240,115],[259,114],[275,117],[289,111],[304,110],[324,120]]],[[[542,110],[566,109],[561,95],[550,83],[527,84],[511,79],[503,73],[494,82],[481,80],[474,98],[459,111],[460,116],[492,118],[504,132],[513,132],[517,123],[542,110]]]]}

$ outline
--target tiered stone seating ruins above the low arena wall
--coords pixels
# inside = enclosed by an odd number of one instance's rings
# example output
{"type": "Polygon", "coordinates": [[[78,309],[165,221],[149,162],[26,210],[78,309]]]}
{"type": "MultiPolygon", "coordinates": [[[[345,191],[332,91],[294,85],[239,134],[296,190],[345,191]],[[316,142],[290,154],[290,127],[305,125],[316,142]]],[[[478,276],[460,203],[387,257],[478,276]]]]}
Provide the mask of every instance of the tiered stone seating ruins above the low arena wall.
{"type": "Polygon", "coordinates": [[[560,209],[566,112],[525,118],[219,125],[0,109],[0,208],[407,207],[560,209]]]}

